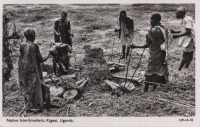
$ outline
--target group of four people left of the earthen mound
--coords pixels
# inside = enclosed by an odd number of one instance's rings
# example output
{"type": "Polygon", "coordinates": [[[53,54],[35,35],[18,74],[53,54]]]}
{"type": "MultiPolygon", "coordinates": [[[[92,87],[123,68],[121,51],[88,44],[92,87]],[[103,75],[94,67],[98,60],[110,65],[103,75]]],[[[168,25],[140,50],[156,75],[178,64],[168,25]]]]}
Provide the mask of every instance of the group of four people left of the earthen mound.
{"type": "MultiPolygon", "coordinates": [[[[15,34],[9,35],[7,24],[11,21],[7,14],[3,17],[3,90],[4,83],[10,78],[13,63],[9,39],[19,39],[15,34]]],[[[50,109],[50,91],[43,81],[43,62],[53,57],[53,72],[55,75],[67,74],[70,67],[69,54],[72,52],[72,36],[67,13],[62,12],[61,18],[55,22],[55,43],[49,49],[49,54],[43,57],[40,48],[34,43],[35,30],[27,28],[23,33],[25,41],[20,43],[19,56],[19,86],[25,100],[26,112],[41,112],[43,108],[50,109]],[[57,66],[58,65],[58,66],[57,66]],[[58,68],[58,70],[57,70],[58,68]]],[[[3,92],[4,93],[4,92],[3,92]]]]}

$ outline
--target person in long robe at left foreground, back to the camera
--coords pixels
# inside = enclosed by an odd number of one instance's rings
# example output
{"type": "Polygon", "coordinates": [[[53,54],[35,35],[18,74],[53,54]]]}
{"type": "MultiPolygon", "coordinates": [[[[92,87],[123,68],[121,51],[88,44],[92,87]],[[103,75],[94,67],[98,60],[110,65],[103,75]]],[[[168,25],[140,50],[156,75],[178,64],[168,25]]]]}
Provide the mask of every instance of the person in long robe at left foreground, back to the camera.
{"type": "Polygon", "coordinates": [[[19,85],[25,99],[25,110],[40,112],[43,102],[50,106],[50,96],[48,100],[45,100],[43,93],[44,90],[49,92],[49,89],[42,83],[43,76],[40,72],[42,71],[40,63],[44,60],[40,54],[39,46],[34,44],[35,31],[26,29],[24,36],[26,41],[20,44],[19,85]]]}

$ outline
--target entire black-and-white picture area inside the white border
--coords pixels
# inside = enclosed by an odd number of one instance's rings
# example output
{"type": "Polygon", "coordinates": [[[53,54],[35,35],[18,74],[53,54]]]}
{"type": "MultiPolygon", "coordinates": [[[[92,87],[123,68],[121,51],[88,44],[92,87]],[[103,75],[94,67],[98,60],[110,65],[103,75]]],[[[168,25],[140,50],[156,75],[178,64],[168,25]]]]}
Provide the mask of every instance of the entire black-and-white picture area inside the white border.
{"type": "Polygon", "coordinates": [[[195,3],[2,13],[3,117],[195,117],[195,3]]]}

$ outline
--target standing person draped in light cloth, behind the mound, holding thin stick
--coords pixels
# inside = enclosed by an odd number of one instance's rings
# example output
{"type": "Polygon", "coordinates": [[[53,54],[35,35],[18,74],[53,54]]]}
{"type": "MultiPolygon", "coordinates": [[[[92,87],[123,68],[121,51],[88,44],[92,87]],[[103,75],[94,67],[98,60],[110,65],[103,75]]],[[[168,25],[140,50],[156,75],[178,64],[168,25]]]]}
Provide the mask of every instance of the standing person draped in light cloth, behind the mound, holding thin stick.
{"type": "Polygon", "coordinates": [[[119,29],[115,29],[115,32],[119,32],[119,38],[122,44],[122,56],[120,59],[127,58],[133,40],[134,23],[133,19],[128,17],[124,10],[120,12],[119,29]]]}

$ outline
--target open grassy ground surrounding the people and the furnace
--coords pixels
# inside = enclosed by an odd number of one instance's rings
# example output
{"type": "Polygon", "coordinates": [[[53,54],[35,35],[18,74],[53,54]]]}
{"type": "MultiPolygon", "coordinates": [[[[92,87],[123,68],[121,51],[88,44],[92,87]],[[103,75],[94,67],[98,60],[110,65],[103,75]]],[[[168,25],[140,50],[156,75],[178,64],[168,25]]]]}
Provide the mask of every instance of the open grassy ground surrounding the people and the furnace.
{"type": "MultiPolygon", "coordinates": [[[[68,12],[74,33],[74,50],[77,56],[76,64],[82,62],[84,45],[97,45],[104,50],[107,61],[111,61],[108,54],[119,54],[121,46],[117,35],[113,32],[118,27],[119,12],[124,9],[135,23],[135,37],[133,43],[142,45],[145,43],[145,35],[150,28],[150,15],[160,12],[162,23],[167,28],[178,29],[180,21],[175,19],[175,10],[180,5],[176,4],[133,4],[133,5],[5,5],[4,9],[11,11],[13,20],[20,29],[35,28],[37,32],[36,43],[40,43],[40,49],[44,56],[53,38],[53,26],[62,11],[68,12]]],[[[195,19],[194,5],[181,5],[188,9],[188,15],[195,19]]],[[[194,116],[195,110],[183,105],[162,101],[161,98],[176,100],[184,104],[195,104],[195,85],[187,82],[195,82],[195,58],[189,69],[178,71],[182,57],[182,48],[177,46],[178,40],[174,40],[170,46],[170,60],[168,61],[171,87],[159,86],[157,91],[143,93],[143,85],[136,86],[135,90],[120,97],[110,95],[111,91],[104,91],[90,85],[84,90],[82,97],[72,101],[61,100],[60,109],[44,111],[41,114],[26,114],[27,116],[194,116]],[[180,83],[182,82],[182,83],[180,83]],[[179,88],[177,88],[179,87],[179,88]],[[183,87],[183,88],[180,88],[183,87]]],[[[18,46],[13,54],[19,54],[18,46]]],[[[138,62],[135,57],[141,54],[141,49],[132,52],[129,74],[131,75],[138,62]]],[[[136,76],[142,75],[147,65],[148,50],[145,50],[136,76]]],[[[18,57],[15,57],[16,59],[18,57]]],[[[112,61],[118,61],[119,56],[112,61]]],[[[71,60],[75,64],[74,58],[71,60]]],[[[125,63],[124,61],[121,61],[125,63]]],[[[51,59],[46,62],[51,64],[51,59]]],[[[23,97],[18,92],[17,61],[9,82],[6,83],[6,103],[3,106],[4,116],[17,116],[23,108],[23,97]]],[[[120,74],[125,74],[121,72],[120,74]]],[[[114,80],[113,80],[114,81],[114,80]]],[[[115,80],[115,82],[118,82],[115,80]]],[[[151,90],[151,88],[150,88],[151,90]]]]}

